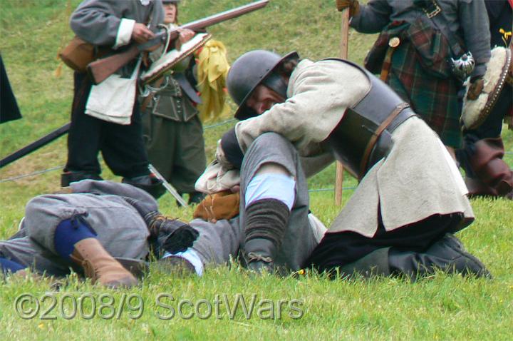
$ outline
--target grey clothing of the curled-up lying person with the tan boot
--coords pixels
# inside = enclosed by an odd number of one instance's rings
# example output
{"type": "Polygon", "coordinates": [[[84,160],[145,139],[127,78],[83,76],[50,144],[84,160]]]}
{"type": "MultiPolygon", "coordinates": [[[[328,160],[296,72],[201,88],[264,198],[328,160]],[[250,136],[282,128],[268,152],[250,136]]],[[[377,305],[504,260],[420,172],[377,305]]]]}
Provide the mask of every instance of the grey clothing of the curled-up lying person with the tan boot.
{"type": "Polygon", "coordinates": [[[108,181],[83,180],[72,187],[73,194],[39,195],[30,200],[21,226],[22,236],[0,241],[0,257],[38,273],[68,274],[73,264],[57,255],[53,238],[61,221],[81,215],[113,257],[146,258],[149,232],[138,211],[123,196],[141,200],[157,210],[150,195],[131,185],[108,181]]]}

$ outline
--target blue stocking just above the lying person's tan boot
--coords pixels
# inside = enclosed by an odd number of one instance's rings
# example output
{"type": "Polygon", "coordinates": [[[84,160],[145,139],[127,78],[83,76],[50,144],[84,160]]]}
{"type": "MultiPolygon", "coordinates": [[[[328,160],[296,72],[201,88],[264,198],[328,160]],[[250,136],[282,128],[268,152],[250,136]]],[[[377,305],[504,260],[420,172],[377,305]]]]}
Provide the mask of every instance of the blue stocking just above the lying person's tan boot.
{"type": "Polygon", "coordinates": [[[53,245],[58,255],[71,260],[69,256],[73,253],[75,244],[86,238],[96,238],[96,233],[90,228],[88,223],[78,215],[71,219],[63,220],[57,225],[56,233],[53,236],[53,245]]]}

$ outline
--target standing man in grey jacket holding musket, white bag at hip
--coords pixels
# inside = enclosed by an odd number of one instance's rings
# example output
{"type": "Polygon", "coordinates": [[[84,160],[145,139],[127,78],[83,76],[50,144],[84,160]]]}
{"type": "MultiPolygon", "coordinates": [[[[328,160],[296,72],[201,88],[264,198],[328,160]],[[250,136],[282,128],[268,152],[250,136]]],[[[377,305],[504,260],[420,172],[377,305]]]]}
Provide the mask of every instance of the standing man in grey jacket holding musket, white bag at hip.
{"type": "MultiPolygon", "coordinates": [[[[96,56],[123,51],[129,44],[152,39],[164,19],[161,0],[86,0],[71,16],[71,29],[96,56]]],[[[148,170],[136,98],[140,58],[93,86],[85,72],[74,75],[75,92],[68,135],[68,162],[62,185],[83,179],[100,180],[98,152],[124,183],[159,195],[160,180],[148,170]]]]}

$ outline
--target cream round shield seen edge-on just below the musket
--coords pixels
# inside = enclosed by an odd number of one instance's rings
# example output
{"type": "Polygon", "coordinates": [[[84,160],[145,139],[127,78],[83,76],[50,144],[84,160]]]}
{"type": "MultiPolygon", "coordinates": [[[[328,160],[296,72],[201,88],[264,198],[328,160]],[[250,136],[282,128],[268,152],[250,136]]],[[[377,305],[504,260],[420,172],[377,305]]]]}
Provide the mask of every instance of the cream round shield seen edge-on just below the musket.
{"type": "Polygon", "coordinates": [[[212,36],[207,33],[196,34],[190,41],[182,44],[180,51],[171,50],[161,56],[157,61],[152,63],[150,68],[142,72],[140,75],[140,81],[142,85],[151,83],[156,79],[164,76],[164,73],[177,63],[180,63],[184,58],[190,56],[194,51],[203,46],[212,36]]]}

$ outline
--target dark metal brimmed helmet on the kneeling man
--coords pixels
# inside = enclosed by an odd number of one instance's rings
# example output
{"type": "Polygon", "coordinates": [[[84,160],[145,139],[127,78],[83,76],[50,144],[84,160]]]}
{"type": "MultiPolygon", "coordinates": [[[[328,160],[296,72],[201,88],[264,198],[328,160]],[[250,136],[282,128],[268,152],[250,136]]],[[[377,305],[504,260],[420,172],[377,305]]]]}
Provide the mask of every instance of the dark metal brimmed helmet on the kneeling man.
{"type": "Polygon", "coordinates": [[[264,84],[286,98],[287,85],[274,71],[282,61],[289,58],[297,59],[299,55],[293,51],[282,57],[271,51],[254,50],[237,58],[227,76],[228,92],[239,106],[235,118],[245,120],[257,116],[252,108],[246,106],[246,101],[259,84],[264,84]]]}

